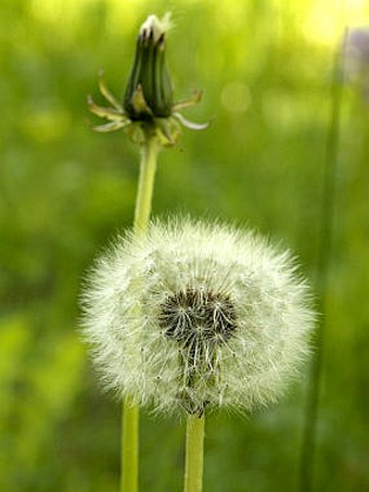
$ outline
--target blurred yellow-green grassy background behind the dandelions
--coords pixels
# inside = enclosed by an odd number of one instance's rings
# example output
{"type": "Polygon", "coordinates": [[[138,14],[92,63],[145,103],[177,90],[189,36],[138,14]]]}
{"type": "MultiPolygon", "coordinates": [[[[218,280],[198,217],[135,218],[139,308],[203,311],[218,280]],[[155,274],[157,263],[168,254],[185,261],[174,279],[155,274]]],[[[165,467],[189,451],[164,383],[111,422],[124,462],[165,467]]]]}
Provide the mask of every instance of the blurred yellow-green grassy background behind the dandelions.
{"type": "MultiPolygon", "coordinates": [[[[78,336],[84,272],[132,223],[138,150],[91,131],[97,74],[123,94],[140,24],[173,11],[177,99],[203,88],[160,156],[155,215],[249,224],[293,249],[315,282],[331,73],[347,2],[2,0],[0,7],[0,489],[116,491],[120,405],[78,336]]],[[[343,88],[315,491],[369,490],[369,101],[343,88]]],[[[320,294],[318,292],[317,298],[320,294]]],[[[308,368],[307,368],[308,369],[308,368]]],[[[308,370],[306,370],[306,375],[308,370]]],[[[250,418],[206,429],[205,491],[300,490],[307,376],[250,418]]],[[[142,413],[141,490],[180,491],[183,422],[142,413]]]]}

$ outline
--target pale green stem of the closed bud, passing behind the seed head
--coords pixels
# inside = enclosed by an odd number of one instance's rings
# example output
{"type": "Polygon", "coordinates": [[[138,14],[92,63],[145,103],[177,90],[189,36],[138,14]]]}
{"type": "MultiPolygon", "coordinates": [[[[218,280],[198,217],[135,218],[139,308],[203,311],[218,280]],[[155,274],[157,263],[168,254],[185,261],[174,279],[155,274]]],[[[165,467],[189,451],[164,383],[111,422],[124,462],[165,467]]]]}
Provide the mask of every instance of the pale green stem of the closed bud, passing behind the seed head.
{"type": "MultiPolygon", "coordinates": [[[[148,130],[141,150],[140,177],[133,223],[136,235],[144,234],[148,228],[158,150],[156,137],[148,130]]],[[[126,398],[123,407],[122,436],[120,492],[137,492],[139,476],[139,408],[133,404],[130,396],[126,398]]]]}

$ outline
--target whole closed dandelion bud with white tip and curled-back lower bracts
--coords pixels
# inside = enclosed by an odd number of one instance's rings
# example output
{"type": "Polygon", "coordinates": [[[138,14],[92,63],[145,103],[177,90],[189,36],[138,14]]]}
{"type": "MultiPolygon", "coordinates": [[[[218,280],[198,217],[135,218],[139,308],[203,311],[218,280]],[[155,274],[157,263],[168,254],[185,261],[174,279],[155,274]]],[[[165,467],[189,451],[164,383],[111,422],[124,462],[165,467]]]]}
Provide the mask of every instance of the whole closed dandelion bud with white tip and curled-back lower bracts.
{"type": "Polygon", "coordinates": [[[165,34],[169,27],[169,14],[162,20],[149,15],[142,24],[123,104],[111,93],[100,75],[100,92],[110,105],[98,105],[91,97],[88,98],[90,111],[107,119],[107,123],[93,127],[97,131],[124,128],[137,143],[143,143],[149,134],[155,136],[162,147],[171,147],[181,137],[181,126],[194,130],[207,128],[208,123],[190,122],[179,112],[198,104],[201,91],[194,92],[189,99],[174,102],[165,63],[165,34]]]}

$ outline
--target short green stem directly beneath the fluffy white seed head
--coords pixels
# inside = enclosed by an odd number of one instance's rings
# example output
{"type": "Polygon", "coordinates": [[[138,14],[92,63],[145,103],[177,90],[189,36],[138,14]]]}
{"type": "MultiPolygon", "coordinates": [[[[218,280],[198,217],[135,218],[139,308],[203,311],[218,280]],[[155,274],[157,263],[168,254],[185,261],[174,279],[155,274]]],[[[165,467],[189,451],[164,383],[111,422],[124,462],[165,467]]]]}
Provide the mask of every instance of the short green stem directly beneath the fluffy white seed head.
{"type": "Polygon", "coordinates": [[[187,418],[184,492],[203,489],[205,415],[187,418]]]}

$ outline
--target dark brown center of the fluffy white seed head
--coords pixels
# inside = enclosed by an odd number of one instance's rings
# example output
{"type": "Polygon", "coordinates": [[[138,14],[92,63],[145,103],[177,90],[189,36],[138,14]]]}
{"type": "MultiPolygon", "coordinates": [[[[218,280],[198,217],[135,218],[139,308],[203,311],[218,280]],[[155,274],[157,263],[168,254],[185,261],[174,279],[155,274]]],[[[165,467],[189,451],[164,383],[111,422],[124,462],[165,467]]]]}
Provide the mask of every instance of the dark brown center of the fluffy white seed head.
{"type": "Polygon", "coordinates": [[[158,323],[167,337],[189,346],[195,340],[216,343],[229,339],[236,330],[237,316],[228,295],[187,289],[162,303],[158,323]]]}

